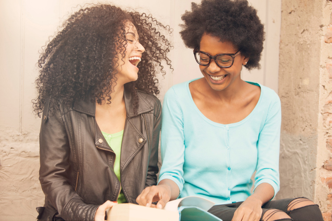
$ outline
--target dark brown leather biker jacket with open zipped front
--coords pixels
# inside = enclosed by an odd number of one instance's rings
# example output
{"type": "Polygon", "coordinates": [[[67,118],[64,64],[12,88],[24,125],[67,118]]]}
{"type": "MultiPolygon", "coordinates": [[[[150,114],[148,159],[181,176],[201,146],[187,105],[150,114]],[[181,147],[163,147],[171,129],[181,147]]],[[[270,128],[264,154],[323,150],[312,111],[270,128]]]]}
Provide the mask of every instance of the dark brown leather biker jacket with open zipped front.
{"type": "MultiPolygon", "coordinates": [[[[146,186],[156,185],[161,104],[153,95],[138,92],[139,108],[124,92],[127,117],[121,145],[121,184],[113,168],[116,157],[95,119],[95,103],[90,98],[72,107],[49,111],[48,100],[40,131],[40,177],[45,194],[44,215],[52,213],[65,220],[94,220],[95,212],[106,200],[117,201],[120,185],[128,202],[146,186]],[[55,209],[55,210],[54,210],[55,209]],[[56,212],[55,211],[55,212],[56,212]]],[[[53,217],[54,219],[54,217],[53,217]]]]}

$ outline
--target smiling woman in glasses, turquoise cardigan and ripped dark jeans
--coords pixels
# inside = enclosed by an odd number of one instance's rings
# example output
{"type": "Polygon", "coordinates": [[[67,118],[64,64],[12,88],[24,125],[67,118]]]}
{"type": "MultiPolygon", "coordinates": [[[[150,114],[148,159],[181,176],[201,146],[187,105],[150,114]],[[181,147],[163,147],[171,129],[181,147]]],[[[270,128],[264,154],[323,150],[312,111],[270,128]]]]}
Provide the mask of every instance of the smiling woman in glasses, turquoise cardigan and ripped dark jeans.
{"type": "Polygon", "coordinates": [[[222,220],[322,220],[306,198],[270,201],[279,190],[281,104],[271,89],[241,80],[259,68],[264,27],[246,0],[203,0],[182,16],[181,36],[203,78],[165,95],[162,168],[139,204],[197,195],[222,220]],[[251,176],[256,171],[254,192],[251,176]]]}

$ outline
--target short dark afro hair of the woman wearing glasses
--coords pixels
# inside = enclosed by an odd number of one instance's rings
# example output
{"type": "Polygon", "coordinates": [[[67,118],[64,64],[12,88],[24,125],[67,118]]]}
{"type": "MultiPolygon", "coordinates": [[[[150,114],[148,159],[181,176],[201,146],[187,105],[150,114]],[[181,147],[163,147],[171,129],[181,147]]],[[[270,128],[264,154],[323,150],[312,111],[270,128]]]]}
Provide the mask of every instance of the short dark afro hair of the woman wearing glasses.
{"type": "Polygon", "coordinates": [[[204,33],[231,42],[250,57],[245,67],[260,68],[259,61],[265,40],[264,25],[257,11],[247,0],[202,0],[191,4],[181,19],[181,37],[189,48],[198,48],[204,33]]]}

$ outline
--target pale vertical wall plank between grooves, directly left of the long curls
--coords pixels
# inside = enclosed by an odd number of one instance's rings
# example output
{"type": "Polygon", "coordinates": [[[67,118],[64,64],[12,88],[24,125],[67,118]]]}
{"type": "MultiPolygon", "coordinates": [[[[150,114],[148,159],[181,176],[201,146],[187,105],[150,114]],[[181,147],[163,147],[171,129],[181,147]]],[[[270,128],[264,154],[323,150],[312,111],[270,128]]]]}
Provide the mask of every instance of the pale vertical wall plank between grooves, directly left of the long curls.
{"type": "Polygon", "coordinates": [[[32,109],[32,100],[37,97],[35,80],[39,75],[36,63],[39,51],[49,36],[54,35],[59,24],[60,1],[24,0],[22,1],[24,39],[23,42],[23,103],[22,131],[38,131],[40,118],[32,109]]]}

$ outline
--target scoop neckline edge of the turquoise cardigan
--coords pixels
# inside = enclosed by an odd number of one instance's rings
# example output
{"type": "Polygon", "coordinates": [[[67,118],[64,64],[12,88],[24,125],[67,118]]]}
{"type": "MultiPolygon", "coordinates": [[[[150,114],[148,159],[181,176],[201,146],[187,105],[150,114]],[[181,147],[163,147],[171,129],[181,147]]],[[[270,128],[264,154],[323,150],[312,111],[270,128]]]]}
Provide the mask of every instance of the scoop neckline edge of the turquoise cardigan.
{"type": "Polygon", "coordinates": [[[253,109],[253,110],[252,110],[252,111],[251,111],[251,112],[250,112],[245,118],[243,118],[242,120],[240,120],[240,121],[238,121],[238,122],[228,123],[228,124],[217,123],[217,122],[214,122],[213,120],[210,120],[209,118],[207,118],[207,117],[206,117],[206,116],[200,111],[200,109],[198,109],[198,107],[196,106],[196,104],[195,104],[195,102],[194,102],[193,97],[191,96],[190,89],[189,89],[189,84],[190,84],[191,82],[193,82],[193,81],[198,80],[198,79],[200,79],[200,78],[196,78],[196,79],[193,79],[193,80],[187,81],[186,88],[187,88],[188,96],[189,96],[189,98],[190,98],[190,103],[191,103],[192,106],[194,106],[194,109],[195,109],[196,111],[198,111],[198,113],[201,115],[201,117],[202,117],[205,121],[207,121],[207,122],[210,123],[210,124],[216,125],[216,126],[223,126],[223,127],[224,127],[224,126],[237,126],[237,125],[239,125],[239,124],[244,123],[244,122],[247,121],[252,115],[254,115],[254,113],[255,113],[256,110],[258,109],[258,106],[260,105],[261,100],[262,100],[262,97],[263,97],[263,96],[262,96],[262,94],[263,94],[263,88],[262,88],[261,84],[256,83],[256,82],[245,81],[245,82],[247,82],[247,83],[249,83],[249,84],[257,85],[257,86],[259,86],[259,87],[261,88],[261,93],[260,93],[260,95],[259,95],[259,99],[258,99],[258,102],[257,102],[255,108],[254,108],[254,109],[253,109]]]}

